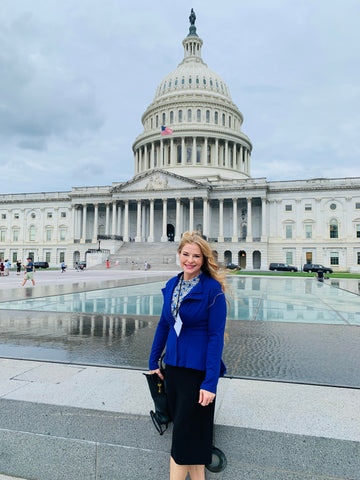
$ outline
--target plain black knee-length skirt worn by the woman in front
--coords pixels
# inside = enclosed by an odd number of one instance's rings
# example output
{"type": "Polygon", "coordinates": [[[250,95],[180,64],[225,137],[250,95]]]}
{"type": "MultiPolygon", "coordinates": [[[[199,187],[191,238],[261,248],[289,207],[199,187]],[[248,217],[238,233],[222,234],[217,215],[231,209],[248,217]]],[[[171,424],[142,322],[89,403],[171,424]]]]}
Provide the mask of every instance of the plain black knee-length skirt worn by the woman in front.
{"type": "Polygon", "coordinates": [[[166,392],[173,420],[171,456],[178,465],[211,463],[215,402],[203,407],[199,391],[205,372],[166,366],[166,392]]]}

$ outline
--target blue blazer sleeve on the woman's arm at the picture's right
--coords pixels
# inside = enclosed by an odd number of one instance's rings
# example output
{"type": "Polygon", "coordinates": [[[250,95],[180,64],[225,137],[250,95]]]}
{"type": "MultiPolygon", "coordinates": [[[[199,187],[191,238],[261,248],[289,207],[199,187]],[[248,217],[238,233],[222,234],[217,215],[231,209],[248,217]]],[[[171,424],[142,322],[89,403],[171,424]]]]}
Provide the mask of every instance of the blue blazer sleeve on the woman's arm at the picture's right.
{"type": "Polygon", "coordinates": [[[221,288],[211,292],[208,314],[208,347],[206,354],[205,380],[203,390],[216,393],[220,377],[221,355],[224,347],[226,323],[226,299],[221,288]]]}

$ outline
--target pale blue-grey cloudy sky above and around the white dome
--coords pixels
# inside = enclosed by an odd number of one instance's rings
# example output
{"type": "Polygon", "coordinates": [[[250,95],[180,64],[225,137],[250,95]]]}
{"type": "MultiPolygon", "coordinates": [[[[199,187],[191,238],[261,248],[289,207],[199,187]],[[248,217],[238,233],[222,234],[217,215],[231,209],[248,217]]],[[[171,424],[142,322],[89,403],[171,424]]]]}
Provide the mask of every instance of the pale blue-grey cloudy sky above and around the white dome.
{"type": "Polygon", "coordinates": [[[252,176],[360,176],[359,0],[1,0],[0,193],[129,180],[191,7],[252,176]]]}

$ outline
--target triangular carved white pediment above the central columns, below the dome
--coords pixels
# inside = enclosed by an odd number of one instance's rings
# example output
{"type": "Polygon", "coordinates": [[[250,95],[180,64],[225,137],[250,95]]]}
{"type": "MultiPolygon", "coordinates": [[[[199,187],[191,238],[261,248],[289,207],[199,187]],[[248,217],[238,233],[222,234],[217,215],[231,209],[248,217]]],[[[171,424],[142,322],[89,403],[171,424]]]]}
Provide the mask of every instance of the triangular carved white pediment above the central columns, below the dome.
{"type": "Polygon", "coordinates": [[[157,169],[153,170],[152,172],[139,175],[138,177],[123,183],[122,185],[114,187],[112,193],[138,192],[146,190],[184,190],[199,187],[206,188],[206,185],[196,180],[157,169]]]}

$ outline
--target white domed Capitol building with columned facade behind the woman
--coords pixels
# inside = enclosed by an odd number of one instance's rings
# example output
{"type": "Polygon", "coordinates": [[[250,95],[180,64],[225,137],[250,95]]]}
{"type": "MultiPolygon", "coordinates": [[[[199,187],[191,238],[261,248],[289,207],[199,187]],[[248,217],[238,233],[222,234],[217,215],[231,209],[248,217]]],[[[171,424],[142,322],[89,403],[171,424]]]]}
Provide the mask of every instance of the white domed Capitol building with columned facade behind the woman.
{"type": "Polygon", "coordinates": [[[199,230],[219,262],[243,269],[270,262],[360,269],[360,178],[252,178],[243,115],[202,59],[202,45],[191,19],[183,60],[142,116],[132,179],[0,195],[0,258],[91,265],[199,230]]]}

